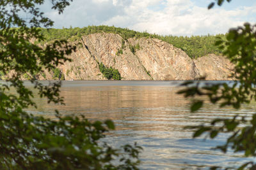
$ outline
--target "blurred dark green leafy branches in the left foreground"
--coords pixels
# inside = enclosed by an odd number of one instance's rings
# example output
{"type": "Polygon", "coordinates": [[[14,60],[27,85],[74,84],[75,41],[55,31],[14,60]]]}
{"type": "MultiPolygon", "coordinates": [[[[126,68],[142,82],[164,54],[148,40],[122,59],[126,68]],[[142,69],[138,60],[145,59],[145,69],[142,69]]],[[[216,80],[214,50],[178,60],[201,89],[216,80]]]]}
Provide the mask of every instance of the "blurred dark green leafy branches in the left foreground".
{"type": "MultiPolygon", "coordinates": [[[[62,13],[69,2],[52,0],[52,9],[62,13]]],[[[24,111],[36,104],[20,76],[48,69],[58,77],[56,66],[70,61],[66,56],[76,51],[65,39],[44,47],[33,42],[46,41],[38,27],[53,23],[36,8],[41,4],[44,0],[0,1],[0,71],[12,75],[0,86],[0,169],[138,169],[140,146],[113,148],[102,141],[106,132],[115,129],[111,120],[90,122],[83,116],[61,117],[58,111],[55,119],[49,119],[24,111]],[[31,18],[20,18],[20,13],[31,18]]],[[[60,82],[47,86],[30,82],[48,103],[64,104],[60,82]]]]}

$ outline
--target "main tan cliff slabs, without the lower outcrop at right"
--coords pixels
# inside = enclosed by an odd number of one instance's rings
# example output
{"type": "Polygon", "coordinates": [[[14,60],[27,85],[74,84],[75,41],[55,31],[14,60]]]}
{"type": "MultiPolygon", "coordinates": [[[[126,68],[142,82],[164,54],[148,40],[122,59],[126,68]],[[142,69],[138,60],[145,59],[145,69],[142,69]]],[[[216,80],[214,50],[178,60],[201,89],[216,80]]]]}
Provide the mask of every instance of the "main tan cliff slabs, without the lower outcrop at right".
{"type": "Polygon", "coordinates": [[[122,80],[194,80],[199,76],[193,60],[185,52],[159,39],[131,38],[125,41],[123,53],[119,55],[116,52],[122,47],[122,37],[118,34],[90,34],[83,37],[82,44],[70,56],[73,62],[61,66],[66,80],[104,79],[97,62],[118,69],[122,80]],[[132,53],[129,46],[137,44],[140,49],[132,53]],[[74,71],[82,66],[83,72],[74,71]],[[70,70],[68,75],[67,70],[70,70]]]}

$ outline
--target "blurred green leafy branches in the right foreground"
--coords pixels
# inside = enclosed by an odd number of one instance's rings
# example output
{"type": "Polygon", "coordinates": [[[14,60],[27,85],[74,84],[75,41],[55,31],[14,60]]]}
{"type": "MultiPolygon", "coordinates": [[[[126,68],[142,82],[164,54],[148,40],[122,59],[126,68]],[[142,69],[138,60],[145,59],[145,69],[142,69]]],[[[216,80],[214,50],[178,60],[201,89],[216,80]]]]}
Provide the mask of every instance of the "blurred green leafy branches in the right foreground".
{"type": "MultiPolygon", "coordinates": [[[[230,2],[230,0],[227,0],[230,2]]],[[[221,5],[224,0],[216,3],[221,5]]],[[[212,8],[215,3],[211,3],[212,8]]],[[[249,104],[256,100],[256,25],[245,23],[241,27],[230,29],[226,39],[218,39],[215,43],[223,55],[227,56],[235,64],[235,73],[232,75],[237,81],[202,85],[200,81],[183,83],[186,89],[180,90],[179,94],[185,97],[193,97],[191,111],[197,111],[204,106],[205,96],[212,104],[224,107],[241,108],[241,104],[249,104]]],[[[216,138],[220,133],[227,134],[224,145],[216,146],[216,149],[226,153],[243,153],[244,157],[256,156],[256,113],[252,117],[239,115],[232,118],[214,118],[209,124],[189,127],[195,129],[193,138],[202,136],[216,138]]],[[[230,169],[256,169],[255,162],[246,162],[240,167],[230,169]]],[[[228,169],[228,167],[212,167],[211,169],[228,169]]]]}

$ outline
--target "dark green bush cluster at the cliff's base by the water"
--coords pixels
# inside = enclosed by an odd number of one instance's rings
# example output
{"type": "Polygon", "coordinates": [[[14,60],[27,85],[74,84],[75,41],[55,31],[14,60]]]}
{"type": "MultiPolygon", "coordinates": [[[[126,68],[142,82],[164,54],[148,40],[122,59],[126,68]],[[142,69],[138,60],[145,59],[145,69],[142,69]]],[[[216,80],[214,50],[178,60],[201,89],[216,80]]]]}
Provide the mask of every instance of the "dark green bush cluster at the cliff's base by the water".
{"type": "Polygon", "coordinates": [[[110,80],[113,78],[113,80],[121,80],[121,75],[118,71],[118,69],[113,69],[113,67],[106,67],[102,62],[99,64],[100,72],[104,75],[104,77],[108,78],[110,80]]]}

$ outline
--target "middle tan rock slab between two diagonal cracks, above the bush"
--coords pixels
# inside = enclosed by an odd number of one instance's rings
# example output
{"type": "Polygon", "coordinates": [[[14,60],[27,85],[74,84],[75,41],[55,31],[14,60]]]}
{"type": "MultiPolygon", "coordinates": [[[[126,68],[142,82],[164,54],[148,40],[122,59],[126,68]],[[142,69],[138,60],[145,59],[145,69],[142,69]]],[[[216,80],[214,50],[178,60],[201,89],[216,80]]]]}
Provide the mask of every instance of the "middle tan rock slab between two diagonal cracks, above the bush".
{"type": "Polygon", "coordinates": [[[122,47],[122,37],[118,34],[90,34],[83,37],[83,43],[95,60],[102,62],[104,66],[118,69],[123,80],[151,80],[127,42],[123,54],[116,55],[122,47]]]}

